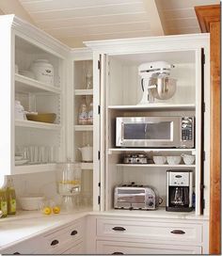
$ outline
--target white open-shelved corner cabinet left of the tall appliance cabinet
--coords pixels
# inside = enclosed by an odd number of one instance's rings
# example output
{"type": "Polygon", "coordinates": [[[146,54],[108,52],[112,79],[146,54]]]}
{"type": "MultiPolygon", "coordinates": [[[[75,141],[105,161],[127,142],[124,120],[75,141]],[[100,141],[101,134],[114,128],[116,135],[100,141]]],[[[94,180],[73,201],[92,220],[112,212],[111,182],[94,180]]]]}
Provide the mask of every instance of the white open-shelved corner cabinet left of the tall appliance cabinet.
{"type": "MultiPolygon", "coordinates": [[[[57,163],[68,158],[81,162],[83,206],[95,203],[98,209],[98,173],[93,171],[97,161],[83,162],[78,148],[94,145],[94,120],[78,125],[80,99],[94,103],[92,83],[92,52],[71,51],[66,45],[50,37],[39,28],[27,24],[14,15],[0,17],[3,40],[0,42],[0,185],[5,175],[51,171],[56,177],[57,163]],[[36,60],[47,60],[53,66],[54,82],[42,82],[33,75],[31,66],[36,60]],[[90,72],[90,88],[85,88],[90,72]],[[56,120],[26,120],[15,117],[15,101],[24,111],[54,113],[56,120]],[[96,192],[94,192],[94,186],[96,192]],[[93,196],[92,196],[93,195],[93,196]]],[[[41,73],[41,75],[43,75],[41,73]]],[[[45,74],[44,74],[45,75],[45,74]]],[[[91,104],[91,110],[93,106],[91,104]]],[[[91,118],[93,113],[91,112],[91,118]]],[[[25,117],[25,115],[24,115],[25,117]]],[[[95,150],[94,150],[95,151],[95,150]]],[[[93,156],[96,158],[96,153],[93,156]]],[[[96,158],[97,159],[97,158],[96,158]]]]}

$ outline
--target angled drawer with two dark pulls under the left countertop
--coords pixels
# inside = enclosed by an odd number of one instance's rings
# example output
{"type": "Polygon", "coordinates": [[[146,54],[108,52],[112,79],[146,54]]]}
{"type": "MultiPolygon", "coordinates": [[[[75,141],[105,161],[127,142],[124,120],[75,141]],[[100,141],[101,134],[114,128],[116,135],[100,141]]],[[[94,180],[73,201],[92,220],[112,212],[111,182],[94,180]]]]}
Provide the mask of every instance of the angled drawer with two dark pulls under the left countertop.
{"type": "Polygon", "coordinates": [[[50,253],[60,253],[66,248],[67,245],[75,243],[84,235],[83,221],[74,222],[68,227],[60,229],[56,232],[46,235],[44,238],[47,244],[47,250],[50,253]]]}

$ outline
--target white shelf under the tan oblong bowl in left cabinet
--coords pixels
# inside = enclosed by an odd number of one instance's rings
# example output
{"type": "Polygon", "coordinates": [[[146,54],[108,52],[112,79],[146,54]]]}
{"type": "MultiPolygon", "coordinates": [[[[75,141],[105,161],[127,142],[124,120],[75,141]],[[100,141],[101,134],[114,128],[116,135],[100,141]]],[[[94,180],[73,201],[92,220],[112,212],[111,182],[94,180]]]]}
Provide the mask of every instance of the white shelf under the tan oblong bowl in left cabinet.
{"type": "Polygon", "coordinates": [[[44,129],[44,130],[59,130],[61,128],[60,124],[33,121],[33,120],[15,120],[15,126],[24,127],[24,128],[37,128],[37,129],[44,129]]]}

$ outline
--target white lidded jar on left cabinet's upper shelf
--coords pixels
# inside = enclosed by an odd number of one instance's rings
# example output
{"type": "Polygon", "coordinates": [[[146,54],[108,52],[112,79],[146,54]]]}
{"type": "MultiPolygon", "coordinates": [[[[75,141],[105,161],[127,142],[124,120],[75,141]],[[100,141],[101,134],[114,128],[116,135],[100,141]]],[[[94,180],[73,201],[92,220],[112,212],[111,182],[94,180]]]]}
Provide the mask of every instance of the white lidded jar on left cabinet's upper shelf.
{"type": "Polygon", "coordinates": [[[54,67],[47,59],[37,59],[30,67],[38,81],[51,86],[54,85],[54,67]]]}

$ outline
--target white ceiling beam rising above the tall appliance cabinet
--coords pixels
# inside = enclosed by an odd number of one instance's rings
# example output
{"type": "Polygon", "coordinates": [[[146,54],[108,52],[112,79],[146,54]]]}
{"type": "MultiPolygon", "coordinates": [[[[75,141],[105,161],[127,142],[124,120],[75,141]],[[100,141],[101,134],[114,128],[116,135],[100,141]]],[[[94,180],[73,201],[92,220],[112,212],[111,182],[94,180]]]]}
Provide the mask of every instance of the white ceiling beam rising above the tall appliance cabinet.
{"type": "Polygon", "coordinates": [[[155,0],[143,0],[151,24],[151,34],[153,36],[164,36],[165,31],[162,25],[160,14],[155,0]]]}

